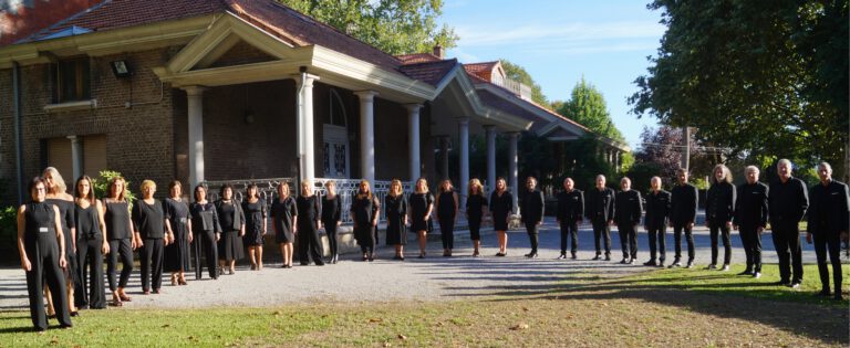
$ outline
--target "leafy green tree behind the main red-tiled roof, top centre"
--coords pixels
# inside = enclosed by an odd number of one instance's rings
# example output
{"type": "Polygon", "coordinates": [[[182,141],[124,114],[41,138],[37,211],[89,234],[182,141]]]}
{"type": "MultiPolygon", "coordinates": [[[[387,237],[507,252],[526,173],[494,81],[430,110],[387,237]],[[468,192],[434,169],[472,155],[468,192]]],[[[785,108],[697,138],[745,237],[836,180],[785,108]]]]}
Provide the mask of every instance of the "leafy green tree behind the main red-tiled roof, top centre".
{"type": "Polygon", "coordinates": [[[454,48],[457,34],[437,25],[442,0],[278,0],[390,54],[454,48]]]}

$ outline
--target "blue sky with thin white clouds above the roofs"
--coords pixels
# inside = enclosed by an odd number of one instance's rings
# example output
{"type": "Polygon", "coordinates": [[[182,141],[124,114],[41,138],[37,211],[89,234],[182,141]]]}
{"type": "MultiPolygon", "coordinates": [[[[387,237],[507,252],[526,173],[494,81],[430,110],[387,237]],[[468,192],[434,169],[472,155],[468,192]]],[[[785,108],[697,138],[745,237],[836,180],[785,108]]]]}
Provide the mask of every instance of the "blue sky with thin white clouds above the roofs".
{"type": "Polygon", "coordinates": [[[646,73],[665,27],[640,0],[445,0],[440,21],[460,36],[449,57],[463,63],[506,59],[528,71],[550,101],[566,101],[584,78],[602,92],[632,148],[644,125],[629,113],[632,83],[646,73]]]}

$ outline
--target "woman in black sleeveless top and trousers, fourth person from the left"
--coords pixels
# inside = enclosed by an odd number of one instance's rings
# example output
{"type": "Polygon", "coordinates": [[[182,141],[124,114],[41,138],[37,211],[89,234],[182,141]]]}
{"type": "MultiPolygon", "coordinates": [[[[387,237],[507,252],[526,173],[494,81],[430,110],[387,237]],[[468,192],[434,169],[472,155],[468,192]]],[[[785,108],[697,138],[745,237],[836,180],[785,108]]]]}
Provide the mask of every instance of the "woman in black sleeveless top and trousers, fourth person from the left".
{"type": "Polygon", "coordinates": [[[106,275],[112,292],[112,305],[121,306],[131,302],[124,288],[127,287],[129,275],[133,273],[133,251],[138,247],[138,240],[133,233],[133,222],[129,219],[129,202],[127,202],[126,181],[115,177],[110,182],[110,193],[103,200],[106,213],[106,236],[110,241],[110,255],[106,259],[106,275]],[[121,257],[121,278],[115,283],[118,259],[121,257]]]}

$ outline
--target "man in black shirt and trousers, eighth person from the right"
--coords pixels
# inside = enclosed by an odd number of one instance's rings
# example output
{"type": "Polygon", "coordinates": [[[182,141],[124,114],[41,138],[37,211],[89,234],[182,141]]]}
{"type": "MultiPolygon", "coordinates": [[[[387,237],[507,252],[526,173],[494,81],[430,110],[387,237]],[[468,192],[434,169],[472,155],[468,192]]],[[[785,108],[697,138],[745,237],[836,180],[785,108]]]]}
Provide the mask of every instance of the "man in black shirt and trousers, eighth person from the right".
{"type": "Polygon", "coordinates": [[[584,197],[584,214],[593,224],[593,242],[597,246],[597,255],[593,260],[601,260],[602,245],[600,239],[604,239],[605,261],[611,261],[611,224],[614,219],[614,190],[605,188],[605,176],[597,176],[595,187],[584,197]]]}

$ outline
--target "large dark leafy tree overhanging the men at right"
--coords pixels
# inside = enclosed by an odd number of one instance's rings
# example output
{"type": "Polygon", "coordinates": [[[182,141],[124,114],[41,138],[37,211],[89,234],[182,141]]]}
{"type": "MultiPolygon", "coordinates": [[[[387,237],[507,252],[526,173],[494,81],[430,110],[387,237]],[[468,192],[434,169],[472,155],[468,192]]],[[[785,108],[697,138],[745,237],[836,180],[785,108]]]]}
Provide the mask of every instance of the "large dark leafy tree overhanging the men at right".
{"type": "Polygon", "coordinates": [[[655,0],[667,31],[633,112],[698,128],[725,157],[818,160],[848,147],[848,2],[655,0]]]}

